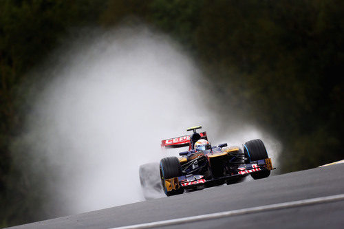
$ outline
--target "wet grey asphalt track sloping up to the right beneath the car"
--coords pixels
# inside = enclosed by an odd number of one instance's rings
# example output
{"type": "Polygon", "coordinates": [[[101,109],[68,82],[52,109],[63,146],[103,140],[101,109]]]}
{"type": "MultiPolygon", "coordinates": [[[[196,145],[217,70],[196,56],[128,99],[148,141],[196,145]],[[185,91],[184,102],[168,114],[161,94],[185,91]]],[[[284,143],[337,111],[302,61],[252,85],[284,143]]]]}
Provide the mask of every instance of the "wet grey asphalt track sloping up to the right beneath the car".
{"type": "MultiPolygon", "coordinates": [[[[116,228],[344,194],[344,164],[151,199],[14,228],[116,228]]],[[[344,228],[344,201],[265,210],[163,228],[344,228]]]]}

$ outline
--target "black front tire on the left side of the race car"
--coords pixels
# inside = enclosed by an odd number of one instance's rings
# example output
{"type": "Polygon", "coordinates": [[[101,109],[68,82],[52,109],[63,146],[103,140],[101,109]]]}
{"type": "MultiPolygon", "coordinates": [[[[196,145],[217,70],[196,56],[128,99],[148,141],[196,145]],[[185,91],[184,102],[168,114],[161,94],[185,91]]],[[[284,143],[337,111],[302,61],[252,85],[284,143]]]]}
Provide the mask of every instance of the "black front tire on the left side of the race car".
{"type": "Polygon", "coordinates": [[[178,195],[184,193],[184,188],[180,187],[178,190],[167,191],[165,186],[165,179],[182,176],[182,166],[177,157],[165,157],[160,161],[160,178],[162,189],[166,196],[178,195]]]}

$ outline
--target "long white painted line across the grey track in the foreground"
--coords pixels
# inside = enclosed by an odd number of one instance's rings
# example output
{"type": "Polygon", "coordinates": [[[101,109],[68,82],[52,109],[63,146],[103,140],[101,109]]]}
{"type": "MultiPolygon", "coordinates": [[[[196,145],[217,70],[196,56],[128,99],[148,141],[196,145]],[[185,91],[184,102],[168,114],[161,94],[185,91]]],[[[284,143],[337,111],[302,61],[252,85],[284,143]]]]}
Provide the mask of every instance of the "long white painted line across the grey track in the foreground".
{"type": "MultiPolygon", "coordinates": [[[[156,227],[162,227],[162,226],[171,226],[175,224],[180,223],[190,223],[194,221],[204,221],[209,219],[219,219],[223,217],[230,217],[234,215],[244,215],[244,214],[250,214],[250,213],[256,213],[256,212],[262,212],[266,210],[278,210],[282,208],[294,208],[297,206],[305,206],[310,204],[323,204],[331,201],[340,201],[344,200],[344,194],[341,195],[330,195],[327,197],[318,197],[313,199],[303,199],[298,201],[290,201],[280,204],[270,204],[266,206],[258,206],[253,208],[244,208],[240,210],[230,210],[226,212],[217,212],[213,214],[206,214],[206,215],[197,215],[194,217],[185,217],[180,219],[169,219],[164,221],[156,221],[152,223],[142,223],[142,224],[136,224],[131,226],[122,226],[116,229],[138,229],[138,228],[156,228],[156,227]]],[[[115,228],[111,228],[115,229],[115,228]]]]}

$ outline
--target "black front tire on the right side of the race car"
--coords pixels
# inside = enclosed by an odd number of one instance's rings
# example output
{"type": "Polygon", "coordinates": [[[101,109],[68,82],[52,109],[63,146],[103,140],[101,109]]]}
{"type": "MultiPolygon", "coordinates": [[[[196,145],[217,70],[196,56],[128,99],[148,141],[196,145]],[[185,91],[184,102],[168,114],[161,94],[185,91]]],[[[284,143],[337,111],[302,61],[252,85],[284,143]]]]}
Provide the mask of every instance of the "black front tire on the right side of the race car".
{"type": "MultiPolygon", "coordinates": [[[[250,140],[244,144],[244,154],[247,160],[245,164],[253,161],[269,158],[264,143],[260,139],[250,140]]],[[[266,178],[270,175],[270,170],[259,171],[250,174],[253,179],[266,178]]]]}

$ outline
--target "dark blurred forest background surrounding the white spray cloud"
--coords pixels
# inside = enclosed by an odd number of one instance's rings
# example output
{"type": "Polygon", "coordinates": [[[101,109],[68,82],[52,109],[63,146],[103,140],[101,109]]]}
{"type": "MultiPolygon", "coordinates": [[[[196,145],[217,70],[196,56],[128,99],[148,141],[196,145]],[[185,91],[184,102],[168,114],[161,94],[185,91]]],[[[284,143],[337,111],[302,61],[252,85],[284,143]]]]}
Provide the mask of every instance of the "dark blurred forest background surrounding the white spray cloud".
{"type": "Polygon", "coordinates": [[[344,159],[343,15],[341,0],[0,1],[0,227],[55,216],[25,168],[47,171],[13,145],[40,89],[30,71],[71,31],[125,22],[169,34],[218,96],[281,141],[286,173],[344,159]]]}

